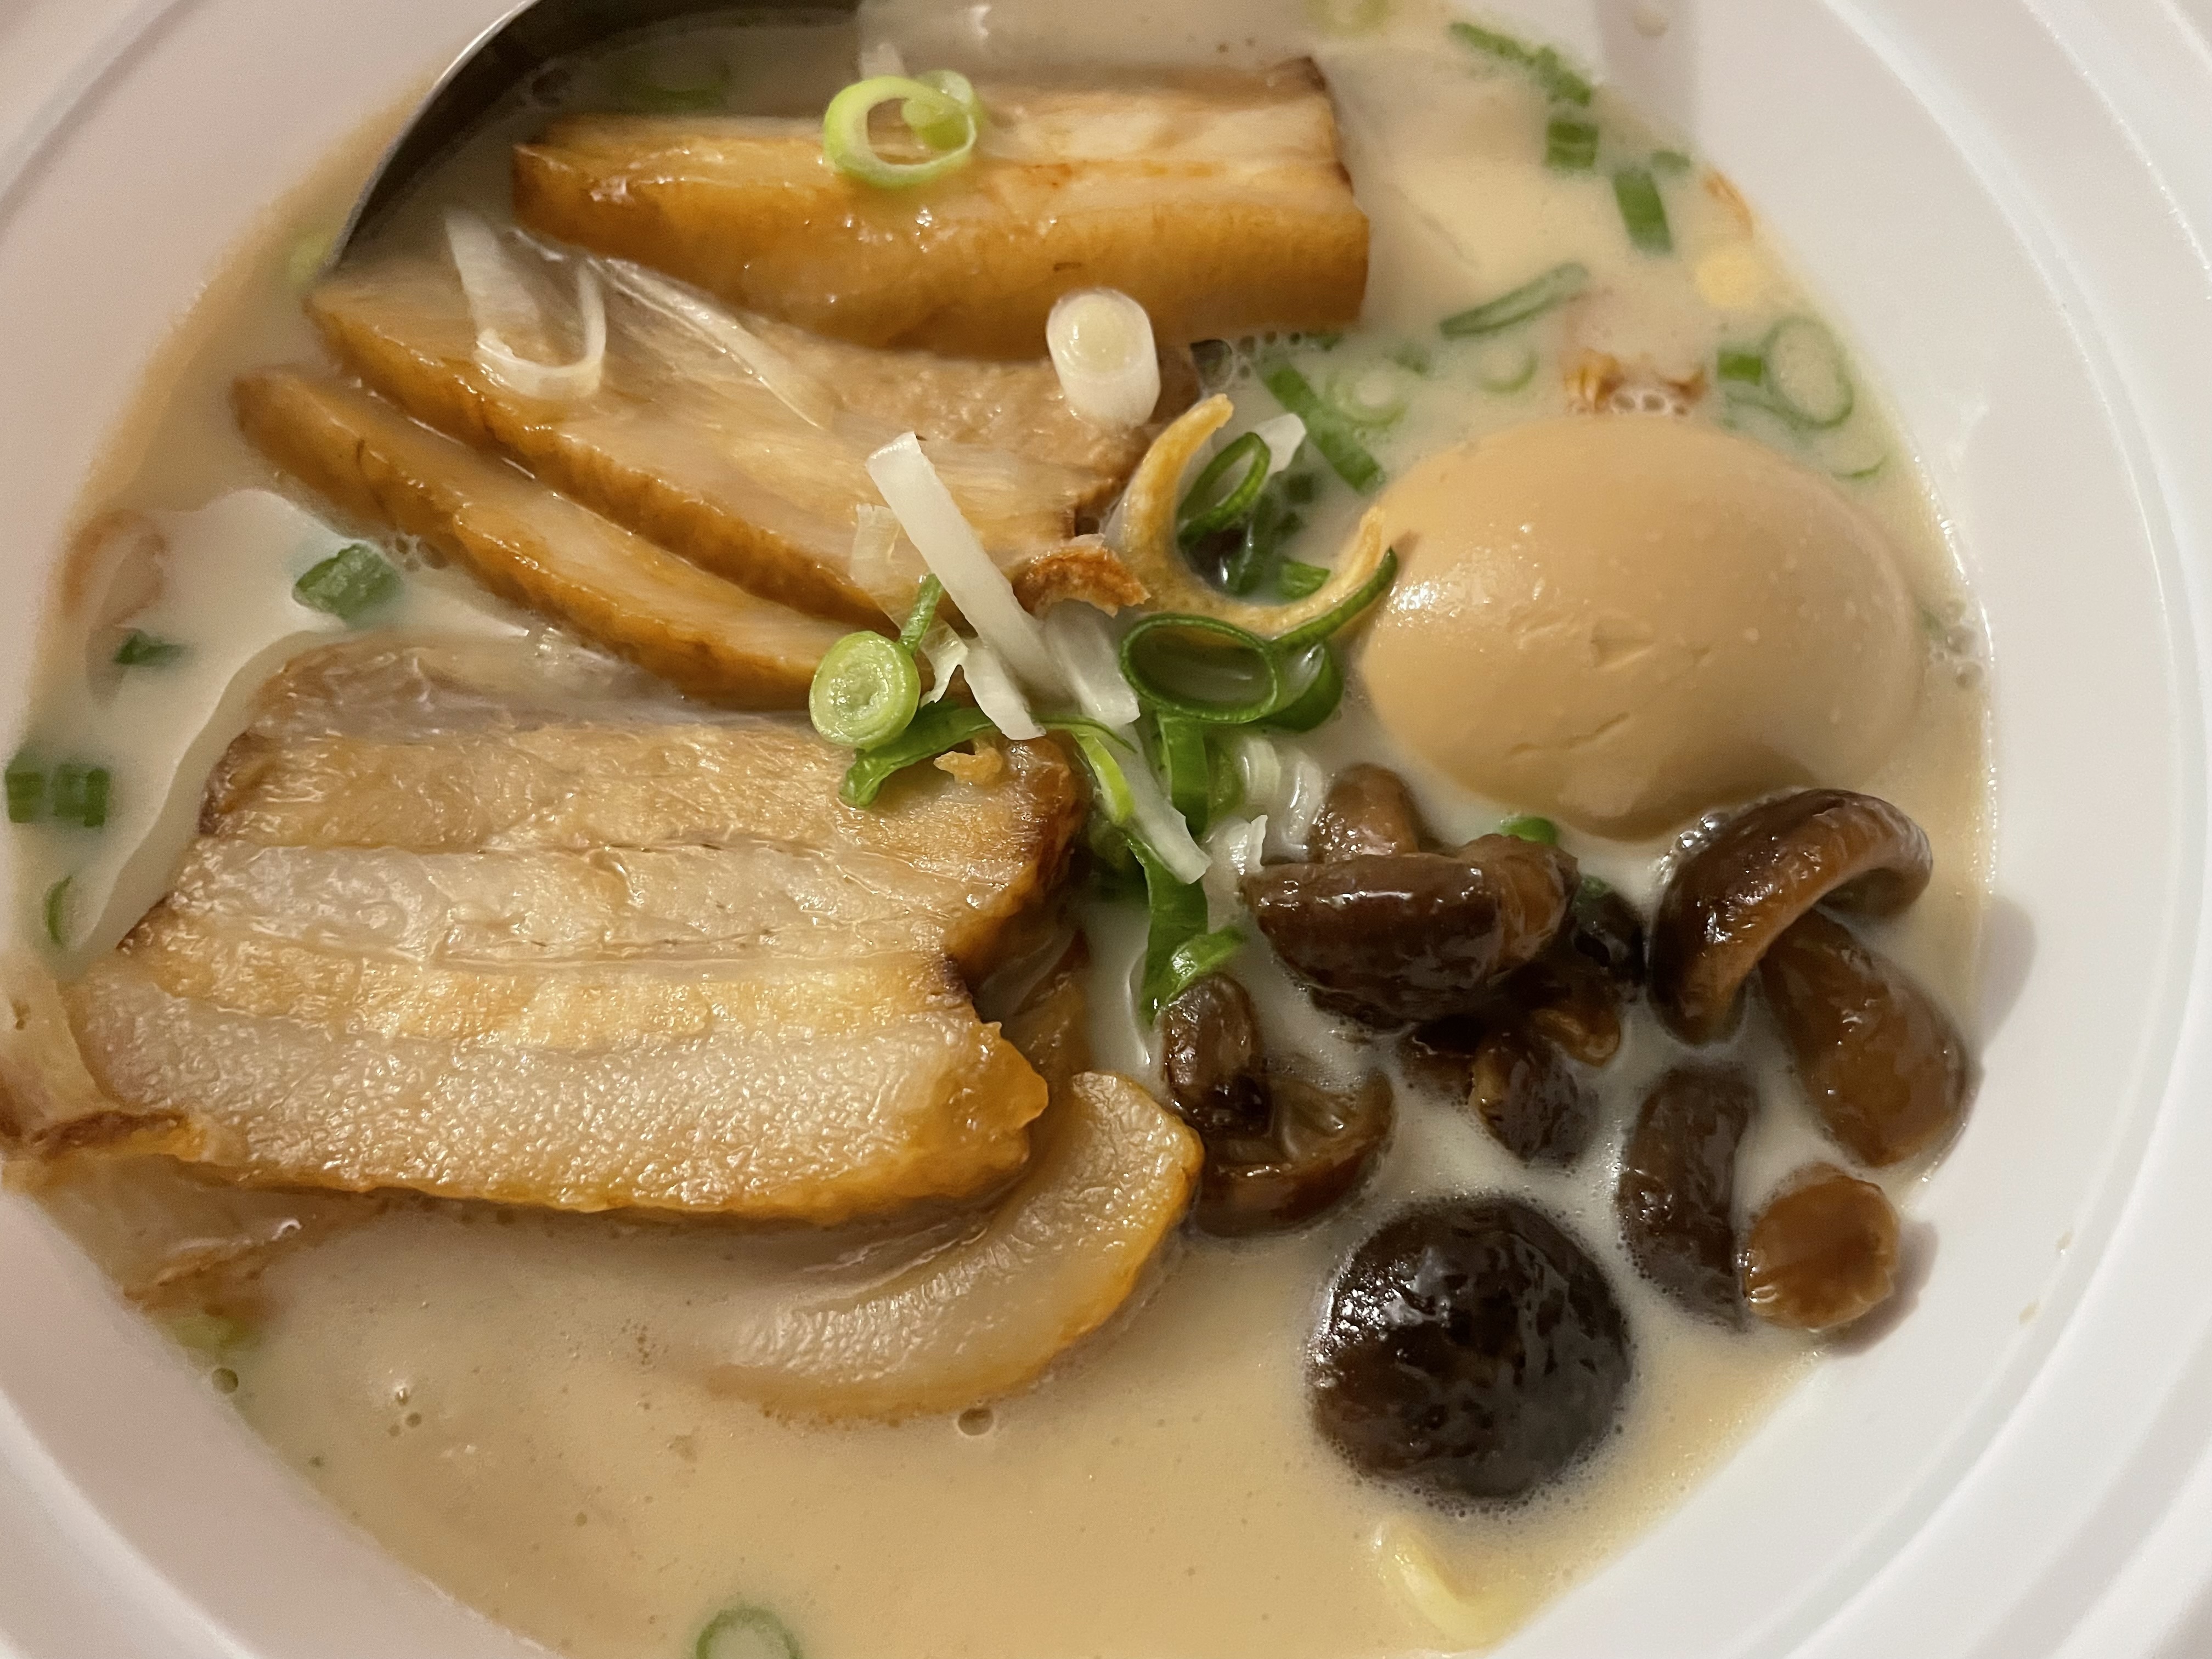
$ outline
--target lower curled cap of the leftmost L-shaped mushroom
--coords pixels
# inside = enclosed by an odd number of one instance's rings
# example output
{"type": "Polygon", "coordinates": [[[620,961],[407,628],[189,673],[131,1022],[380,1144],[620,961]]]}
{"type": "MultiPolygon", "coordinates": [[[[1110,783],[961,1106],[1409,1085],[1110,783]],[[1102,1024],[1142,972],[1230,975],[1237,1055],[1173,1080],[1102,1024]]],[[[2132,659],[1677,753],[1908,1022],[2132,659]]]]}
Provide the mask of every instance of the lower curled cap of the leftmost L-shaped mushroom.
{"type": "Polygon", "coordinates": [[[1312,1221],[1358,1188],[1389,1139],[1389,1077],[1323,1088],[1279,1071],[1267,1093],[1274,1113],[1265,1135],[1206,1141],[1194,1210],[1201,1232],[1241,1239],[1312,1221]]]}

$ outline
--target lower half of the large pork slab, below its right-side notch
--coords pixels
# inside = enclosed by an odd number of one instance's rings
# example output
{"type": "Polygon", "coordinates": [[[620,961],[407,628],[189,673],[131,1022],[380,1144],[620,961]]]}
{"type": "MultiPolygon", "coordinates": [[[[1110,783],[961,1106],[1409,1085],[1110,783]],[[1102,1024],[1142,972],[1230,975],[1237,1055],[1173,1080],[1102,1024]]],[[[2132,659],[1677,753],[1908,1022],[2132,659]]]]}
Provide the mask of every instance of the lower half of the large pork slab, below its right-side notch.
{"type": "Polygon", "coordinates": [[[221,945],[133,942],[64,995],[119,1115],[243,1181],[830,1223],[1004,1181],[1044,1106],[942,958],[469,975],[221,945]]]}

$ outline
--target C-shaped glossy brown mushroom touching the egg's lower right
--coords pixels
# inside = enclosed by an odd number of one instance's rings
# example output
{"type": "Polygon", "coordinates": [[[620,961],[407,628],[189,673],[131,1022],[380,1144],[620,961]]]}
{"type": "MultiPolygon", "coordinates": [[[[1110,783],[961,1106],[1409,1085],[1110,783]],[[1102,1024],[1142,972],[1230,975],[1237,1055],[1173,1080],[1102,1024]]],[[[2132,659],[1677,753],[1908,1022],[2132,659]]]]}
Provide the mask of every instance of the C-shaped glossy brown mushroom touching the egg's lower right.
{"type": "Polygon", "coordinates": [[[1650,938],[1652,1004],[1686,1042],[1728,1033],[1759,958],[1814,905],[1891,916],[1929,885],[1929,838],[1887,801],[1798,790],[1734,818],[1681,863],[1650,938]]]}

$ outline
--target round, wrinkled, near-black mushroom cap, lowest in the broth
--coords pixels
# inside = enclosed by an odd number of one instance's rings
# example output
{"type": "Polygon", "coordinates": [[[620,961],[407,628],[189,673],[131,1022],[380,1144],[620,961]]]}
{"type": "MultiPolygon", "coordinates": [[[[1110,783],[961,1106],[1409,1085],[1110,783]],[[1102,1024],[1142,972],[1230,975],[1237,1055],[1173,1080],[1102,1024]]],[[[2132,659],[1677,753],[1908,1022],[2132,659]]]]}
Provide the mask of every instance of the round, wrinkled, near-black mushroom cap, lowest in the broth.
{"type": "Polygon", "coordinates": [[[1628,1321],[1604,1270],[1511,1199],[1425,1203],[1329,1287],[1307,1387],[1356,1469],[1442,1500],[1513,1500],[1613,1429],[1628,1321]]]}

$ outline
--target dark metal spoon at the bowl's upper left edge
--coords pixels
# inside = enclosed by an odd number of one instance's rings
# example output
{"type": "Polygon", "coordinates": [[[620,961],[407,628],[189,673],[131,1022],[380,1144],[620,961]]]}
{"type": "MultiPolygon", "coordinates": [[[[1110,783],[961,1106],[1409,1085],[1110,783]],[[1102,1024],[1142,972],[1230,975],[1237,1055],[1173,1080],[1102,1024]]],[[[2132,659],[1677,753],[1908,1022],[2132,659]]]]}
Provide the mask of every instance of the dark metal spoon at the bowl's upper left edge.
{"type": "Polygon", "coordinates": [[[830,22],[856,7],[858,0],[752,0],[745,7],[732,7],[730,0],[524,0],[438,77],[422,108],[376,164],[327,263],[345,259],[345,250],[374,230],[409,186],[442,161],[500,100],[560,58],[679,18],[721,13],[732,22],[757,22],[763,13],[774,13],[776,22],[803,22],[812,13],[830,22]]]}

